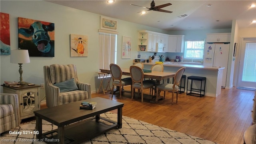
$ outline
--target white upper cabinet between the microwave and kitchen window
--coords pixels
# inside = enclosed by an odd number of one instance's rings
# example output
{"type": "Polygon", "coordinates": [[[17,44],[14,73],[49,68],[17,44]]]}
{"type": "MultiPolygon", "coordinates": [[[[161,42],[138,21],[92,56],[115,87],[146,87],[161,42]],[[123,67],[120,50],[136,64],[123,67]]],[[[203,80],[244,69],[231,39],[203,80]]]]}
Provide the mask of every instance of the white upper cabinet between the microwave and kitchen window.
{"type": "Polygon", "coordinates": [[[184,35],[170,35],[168,52],[184,52],[184,35]]]}

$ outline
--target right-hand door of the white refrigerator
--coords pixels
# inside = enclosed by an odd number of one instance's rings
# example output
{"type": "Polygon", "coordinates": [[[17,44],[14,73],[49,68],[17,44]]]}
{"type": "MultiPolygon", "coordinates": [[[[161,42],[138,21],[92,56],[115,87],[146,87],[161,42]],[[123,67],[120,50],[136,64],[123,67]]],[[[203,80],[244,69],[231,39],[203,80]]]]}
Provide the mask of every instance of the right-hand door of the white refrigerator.
{"type": "Polygon", "coordinates": [[[227,71],[228,71],[228,55],[229,55],[230,44],[216,44],[214,52],[214,63],[213,66],[225,67],[222,76],[222,85],[226,86],[227,71]]]}

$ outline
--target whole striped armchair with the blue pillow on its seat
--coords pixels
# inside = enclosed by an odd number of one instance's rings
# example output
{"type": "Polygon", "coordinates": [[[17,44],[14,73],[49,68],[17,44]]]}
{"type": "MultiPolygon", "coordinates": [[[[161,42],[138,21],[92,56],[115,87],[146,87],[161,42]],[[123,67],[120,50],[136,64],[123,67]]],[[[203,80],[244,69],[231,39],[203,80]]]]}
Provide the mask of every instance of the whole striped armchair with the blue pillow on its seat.
{"type": "Polygon", "coordinates": [[[91,98],[91,85],[79,82],[74,64],[44,66],[44,82],[48,108],[91,98]],[[72,78],[78,90],[61,92],[59,87],[54,86],[72,78]]]}

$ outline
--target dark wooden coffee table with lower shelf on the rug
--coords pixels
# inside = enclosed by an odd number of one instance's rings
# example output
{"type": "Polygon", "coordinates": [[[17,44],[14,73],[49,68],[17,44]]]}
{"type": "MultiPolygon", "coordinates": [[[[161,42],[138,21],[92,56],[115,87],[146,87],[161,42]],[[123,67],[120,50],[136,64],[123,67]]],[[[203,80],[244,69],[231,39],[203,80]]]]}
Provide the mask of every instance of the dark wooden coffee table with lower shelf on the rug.
{"type": "Polygon", "coordinates": [[[96,97],[34,111],[38,131],[36,138],[51,144],[84,142],[108,130],[122,128],[123,106],[121,102],[96,97]],[[97,102],[97,105],[93,110],[80,109],[79,106],[84,101],[97,102]],[[115,109],[118,109],[117,122],[100,117],[100,114],[115,109]],[[58,129],[42,133],[42,120],[58,126],[58,129]]]}

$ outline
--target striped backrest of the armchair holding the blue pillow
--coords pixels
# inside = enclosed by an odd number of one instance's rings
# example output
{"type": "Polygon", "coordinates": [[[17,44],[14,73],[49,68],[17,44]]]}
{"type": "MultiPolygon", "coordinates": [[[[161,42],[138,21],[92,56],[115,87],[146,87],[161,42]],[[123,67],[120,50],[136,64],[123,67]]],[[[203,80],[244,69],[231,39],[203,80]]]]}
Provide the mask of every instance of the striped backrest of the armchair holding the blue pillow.
{"type": "Polygon", "coordinates": [[[52,64],[49,68],[50,80],[52,84],[64,82],[74,78],[77,82],[76,66],[74,64],[52,64]]]}

